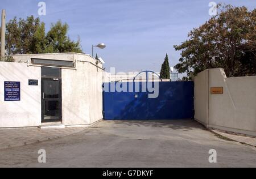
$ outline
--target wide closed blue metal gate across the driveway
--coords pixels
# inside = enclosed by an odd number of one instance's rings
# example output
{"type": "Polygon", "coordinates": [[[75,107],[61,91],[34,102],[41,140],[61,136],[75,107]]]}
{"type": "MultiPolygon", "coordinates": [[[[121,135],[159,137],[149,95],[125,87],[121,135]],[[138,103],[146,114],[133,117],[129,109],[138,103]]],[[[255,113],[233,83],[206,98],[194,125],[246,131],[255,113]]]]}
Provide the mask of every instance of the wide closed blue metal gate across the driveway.
{"type": "MultiPolygon", "coordinates": [[[[104,83],[110,89],[118,82],[104,83]]],[[[193,82],[159,82],[159,95],[148,98],[150,92],[103,92],[105,120],[178,120],[193,118],[193,82]]],[[[146,82],[122,83],[121,86],[146,82]]],[[[133,88],[134,89],[134,88],[133,88]]],[[[127,90],[128,91],[128,90],[127,90]]]]}

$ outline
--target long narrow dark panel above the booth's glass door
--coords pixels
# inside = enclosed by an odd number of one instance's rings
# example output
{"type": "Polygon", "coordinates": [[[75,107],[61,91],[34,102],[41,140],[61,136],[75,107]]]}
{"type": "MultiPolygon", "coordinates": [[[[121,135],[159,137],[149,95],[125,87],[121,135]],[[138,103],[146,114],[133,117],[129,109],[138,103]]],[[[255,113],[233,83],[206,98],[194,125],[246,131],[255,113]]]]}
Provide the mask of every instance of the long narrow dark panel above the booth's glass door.
{"type": "Polygon", "coordinates": [[[75,67],[73,61],[64,61],[56,59],[39,59],[31,58],[32,64],[44,66],[57,66],[57,67],[75,67]]]}

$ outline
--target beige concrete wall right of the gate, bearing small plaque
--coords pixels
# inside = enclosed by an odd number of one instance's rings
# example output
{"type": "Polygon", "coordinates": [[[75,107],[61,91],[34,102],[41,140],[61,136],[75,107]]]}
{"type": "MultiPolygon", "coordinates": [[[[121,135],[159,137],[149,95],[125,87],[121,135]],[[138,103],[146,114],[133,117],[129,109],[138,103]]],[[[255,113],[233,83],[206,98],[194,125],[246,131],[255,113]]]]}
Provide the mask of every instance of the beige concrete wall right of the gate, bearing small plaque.
{"type": "Polygon", "coordinates": [[[210,128],[256,136],[256,76],[226,78],[223,69],[195,77],[195,119],[210,128]],[[210,94],[223,87],[223,94],[210,94]]]}

